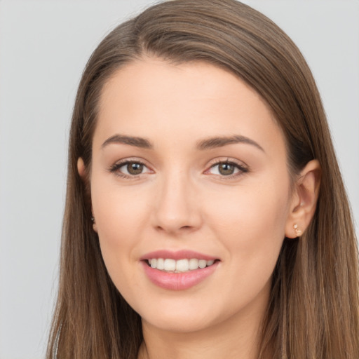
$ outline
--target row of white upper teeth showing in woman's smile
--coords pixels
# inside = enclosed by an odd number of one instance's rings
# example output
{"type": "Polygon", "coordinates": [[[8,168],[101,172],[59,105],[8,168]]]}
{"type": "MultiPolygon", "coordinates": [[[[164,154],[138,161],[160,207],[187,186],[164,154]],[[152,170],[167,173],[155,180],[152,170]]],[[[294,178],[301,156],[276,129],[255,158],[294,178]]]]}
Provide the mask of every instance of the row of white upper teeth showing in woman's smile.
{"type": "Polygon", "coordinates": [[[205,268],[206,266],[212,266],[215,263],[214,260],[206,261],[205,259],[163,259],[163,258],[152,258],[148,259],[151,268],[159,269],[160,271],[182,273],[187,271],[194,271],[198,268],[205,268]]]}

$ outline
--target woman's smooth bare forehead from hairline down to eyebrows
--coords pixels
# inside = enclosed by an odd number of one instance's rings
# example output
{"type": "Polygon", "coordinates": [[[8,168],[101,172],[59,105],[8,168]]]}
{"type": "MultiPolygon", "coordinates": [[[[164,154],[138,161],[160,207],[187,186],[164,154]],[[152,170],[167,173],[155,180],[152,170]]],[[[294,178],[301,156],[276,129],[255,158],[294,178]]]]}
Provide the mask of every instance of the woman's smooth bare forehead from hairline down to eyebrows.
{"type": "Polygon", "coordinates": [[[264,145],[283,142],[269,106],[231,72],[156,58],[131,62],[105,83],[95,137],[106,140],[116,132],[154,141],[236,134],[264,145]]]}

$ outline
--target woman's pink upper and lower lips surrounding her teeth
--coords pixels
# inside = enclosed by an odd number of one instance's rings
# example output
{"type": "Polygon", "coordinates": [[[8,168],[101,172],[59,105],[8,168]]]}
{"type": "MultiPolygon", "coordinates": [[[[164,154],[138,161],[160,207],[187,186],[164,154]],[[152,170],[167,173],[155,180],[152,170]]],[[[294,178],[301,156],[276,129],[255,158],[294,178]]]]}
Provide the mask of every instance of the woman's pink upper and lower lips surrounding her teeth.
{"type": "Polygon", "coordinates": [[[218,267],[219,261],[216,261],[212,266],[207,266],[203,269],[198,268],[193,271],[183,273],[169,273],[160,271],[159,269],[151,268],[148,265],[147,259],[152,258],[170,258],[170,259],[205,259],[207,261],[215,260],[217,258],[203,255],[191,250],[180,250],[177,252],[169,252],[168,250],[158,250],[156,252],[148,253],[141,257],[142,267],[144,273],[147,274],[152,283],[166,290],[187,290],[201,283],[205,278],[208,278],[218,267]]]}

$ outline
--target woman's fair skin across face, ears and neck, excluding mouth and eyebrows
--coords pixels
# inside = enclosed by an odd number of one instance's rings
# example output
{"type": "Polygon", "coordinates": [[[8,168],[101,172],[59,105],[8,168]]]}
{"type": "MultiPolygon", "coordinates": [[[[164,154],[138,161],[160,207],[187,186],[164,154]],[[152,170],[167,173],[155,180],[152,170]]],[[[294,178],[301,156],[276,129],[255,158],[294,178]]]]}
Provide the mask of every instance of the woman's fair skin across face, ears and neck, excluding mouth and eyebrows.
{"type": "MultiPolygon", "coordinates": [[[[81,158],[78,168],[85,177],[81,158]]],[[[142,317],[139,358],[257,358],[273,269],[283,238],[297,237],[293,225],[304,231],[310,222],[318,168],[311,161],[291,187],[269,107],[224,69],[145,58],[111,77],[93,137],[94,230],[111,279],[142,317]],[[109,141],[118,134],[153,148],[109,141]],[[233,135],[258,146],[198,149],[233,135]],[[116,167],[121,161],[144,163],[142,173],[126,173],[127,165],[116,167]],[[239,167],[223,175],[218,161],[239,167]],[[140,261],[163,249],[195,250],[219,263],[198,285],[166,290],[140,261]]]]}

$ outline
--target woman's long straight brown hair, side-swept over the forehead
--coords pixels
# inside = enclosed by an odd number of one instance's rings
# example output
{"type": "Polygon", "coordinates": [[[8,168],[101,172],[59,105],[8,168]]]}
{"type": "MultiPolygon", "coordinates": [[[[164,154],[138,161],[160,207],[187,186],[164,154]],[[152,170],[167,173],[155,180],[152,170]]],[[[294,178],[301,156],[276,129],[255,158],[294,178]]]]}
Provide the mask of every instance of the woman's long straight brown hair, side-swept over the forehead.
{"type": "Polygon", "coordinates": [[[358,249],[320,95],[298,48],[271,20],[234,0],[173,0],[114,29],[83,72],[69,138],[60,287],[47,358],[135,359],[140,316],[121,297],[92,229],[88,181],[104,83],[144,55],[205,61],[236,74],[271,107],[285,135],[294,177],[316,158],[322,181],[316,213],[297,241],[285,239],[273,273],[259,357],[358,359],[358,249]]]}

